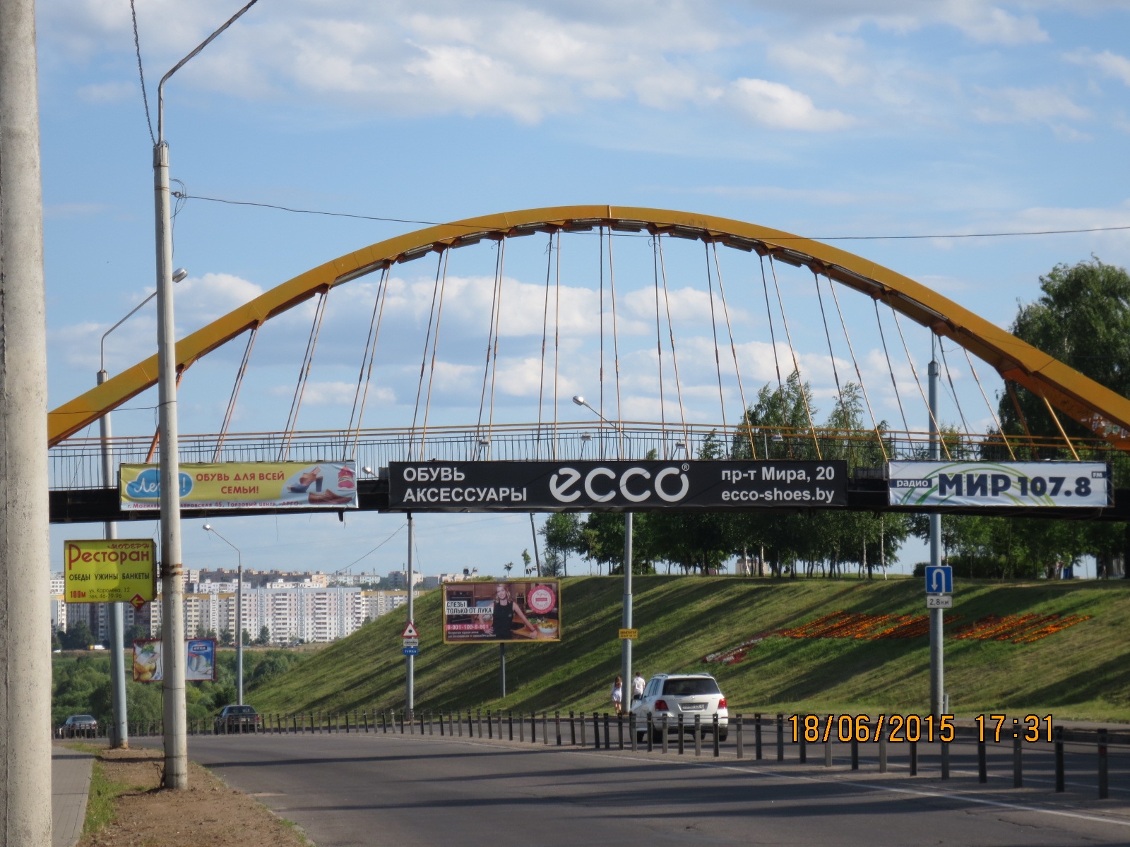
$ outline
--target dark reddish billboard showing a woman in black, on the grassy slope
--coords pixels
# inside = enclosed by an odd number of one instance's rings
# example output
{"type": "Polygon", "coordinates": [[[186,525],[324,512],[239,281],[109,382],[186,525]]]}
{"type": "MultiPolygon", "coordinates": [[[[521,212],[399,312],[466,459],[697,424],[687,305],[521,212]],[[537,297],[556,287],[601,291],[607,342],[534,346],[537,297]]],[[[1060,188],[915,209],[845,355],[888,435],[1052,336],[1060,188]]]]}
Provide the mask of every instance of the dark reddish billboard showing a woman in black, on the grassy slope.
{"type": "Polygon", "coordinates": [[[559,641],[556,579],[444,583],[443,643],[559,641]]]}

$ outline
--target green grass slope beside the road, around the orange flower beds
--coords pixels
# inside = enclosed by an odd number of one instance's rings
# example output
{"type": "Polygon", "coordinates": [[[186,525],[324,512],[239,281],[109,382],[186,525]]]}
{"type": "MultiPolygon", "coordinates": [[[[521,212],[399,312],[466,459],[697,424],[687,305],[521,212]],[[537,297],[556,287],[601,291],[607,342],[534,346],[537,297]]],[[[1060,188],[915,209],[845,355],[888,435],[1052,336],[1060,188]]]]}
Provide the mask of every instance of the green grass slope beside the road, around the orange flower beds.
{"type": "MultiPolygon", "coordinates": [[[[444,645],[440,593],[416,605],[420,655],[418,709],[609,709],[619,672],[617,629],[621,583],[612,577],[566,579],[564,640],[512,643],[507,690],[498,697],[496,645],[444,645]]],[[[637,577],[635,667],[710,672],[738,711],[924,711],[929,645],[910,639],[772,636],[733,665],[704,664],[713,652],[747,638],[796,627],[843,610],[924,614],[919,579],[744,579],[637,577]]],[[[958,715],[1007,710],[1060,718],[1130,721],[1130,586],[1122,580],[963,580],[953,614],[970,622],[989,614],[1089,614],[1090,620],[1032,644],[946,640],[946,689],[958,715]]],[[[373,621],[302,665],[252,690],[266,711],[401,708],[402,614],[373,621]]]]}

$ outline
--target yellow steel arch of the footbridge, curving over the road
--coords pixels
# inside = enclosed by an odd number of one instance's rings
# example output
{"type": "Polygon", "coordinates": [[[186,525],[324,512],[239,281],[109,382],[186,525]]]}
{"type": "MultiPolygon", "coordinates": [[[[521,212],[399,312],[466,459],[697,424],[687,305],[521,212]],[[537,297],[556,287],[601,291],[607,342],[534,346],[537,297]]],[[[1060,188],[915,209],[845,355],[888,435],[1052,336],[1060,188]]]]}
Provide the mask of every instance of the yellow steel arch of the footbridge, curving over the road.
{"type": "MultiPolygon", "coordinates": [[[[620,206],[560,206],[488,215],[399,235],[347,253],[260,295],[176,343],[177,368],[247,329],[322,290],[433,251],[553,229],[609,226],[614,230],[667,233],[702,238],[827,273],[850,288],[893,306],[946,335],[1120,449],[1130,451],[1130,400],[1103,387],[1048,353],[958,306],[925,286],[837,247],[779,229],[709,215],[620,206]]],[[[151,356],[47,413],[47,439],[55,445],[157,383],[151,356]]]]}

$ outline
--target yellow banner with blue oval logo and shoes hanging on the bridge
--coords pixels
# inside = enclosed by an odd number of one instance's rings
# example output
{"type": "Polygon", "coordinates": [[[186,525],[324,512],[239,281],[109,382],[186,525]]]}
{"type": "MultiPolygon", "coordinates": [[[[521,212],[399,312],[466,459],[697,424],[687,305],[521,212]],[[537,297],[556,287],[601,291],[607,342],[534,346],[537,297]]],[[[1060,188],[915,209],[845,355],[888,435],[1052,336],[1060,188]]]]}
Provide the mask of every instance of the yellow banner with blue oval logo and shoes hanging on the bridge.
{"type": "MultiPolygon", "coordinates": [[[[123,512],[160,508],[159,465],[122,464],[123,512]]],[[[181,465],[184,508],[357,508],[354,462],[193,462],[181,465]]]]}

